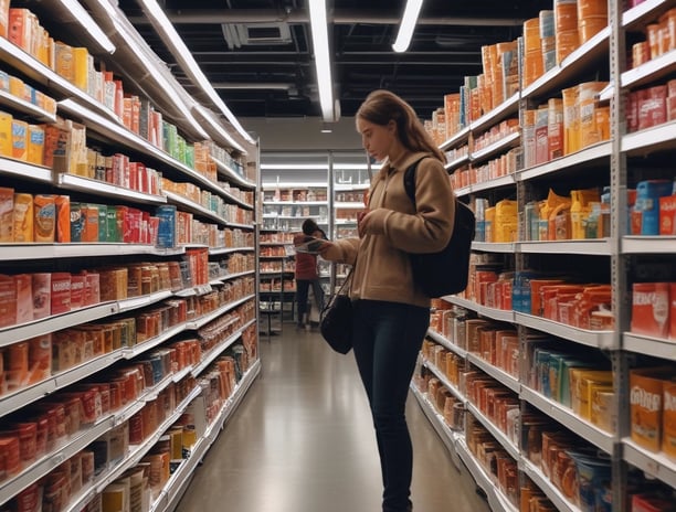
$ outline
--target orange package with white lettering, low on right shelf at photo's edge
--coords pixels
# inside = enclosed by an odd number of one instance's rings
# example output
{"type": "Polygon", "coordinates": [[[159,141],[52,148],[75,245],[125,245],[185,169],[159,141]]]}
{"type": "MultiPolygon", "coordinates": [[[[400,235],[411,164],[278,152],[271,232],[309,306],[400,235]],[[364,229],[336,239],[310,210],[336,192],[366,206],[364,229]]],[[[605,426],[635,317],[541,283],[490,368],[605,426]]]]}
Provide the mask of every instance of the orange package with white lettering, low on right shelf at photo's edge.
{"type": "Polygon", "coordinates": [[[674,378],[675,366],[630,371],[630,412],[632,440],[651,451],[662,447],[664,386],[674,378]]]}

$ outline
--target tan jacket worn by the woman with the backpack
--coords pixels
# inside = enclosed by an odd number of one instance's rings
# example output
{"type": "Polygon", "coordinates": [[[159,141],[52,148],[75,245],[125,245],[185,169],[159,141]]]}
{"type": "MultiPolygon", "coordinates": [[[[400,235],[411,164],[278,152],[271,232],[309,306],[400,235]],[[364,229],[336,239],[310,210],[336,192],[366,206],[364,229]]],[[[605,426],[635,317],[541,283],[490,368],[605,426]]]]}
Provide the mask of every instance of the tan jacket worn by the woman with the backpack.
{"type": "Polygon", "coordinates": [[[405,170],[424,152],[408,153],[384,164],[373,177],[369,210],[373,211],[370,233],[362,238],[335,241],[339,262],[355,265],[352,299],[385,300],[430,307],[427,297],[411,275],[409,253],[435,253],[451,239],[455,203],[448,174],[435,158],[418,164],[415,202],[404,189],[405,170]]]}

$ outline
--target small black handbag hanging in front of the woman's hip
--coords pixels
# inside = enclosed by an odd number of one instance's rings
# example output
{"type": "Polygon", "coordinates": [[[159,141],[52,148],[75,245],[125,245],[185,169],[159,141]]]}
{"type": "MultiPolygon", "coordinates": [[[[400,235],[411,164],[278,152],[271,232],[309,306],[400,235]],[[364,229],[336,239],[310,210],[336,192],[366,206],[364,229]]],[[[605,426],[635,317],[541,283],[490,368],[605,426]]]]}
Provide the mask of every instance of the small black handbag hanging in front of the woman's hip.
{"type": "Polygon", "coordinates": [[[352,349],[352,301],[349,297],[349,282],[352,270],[342,286],[331,297],[319,316],[319,332],[331,349],[347,354],[352,349]]]}

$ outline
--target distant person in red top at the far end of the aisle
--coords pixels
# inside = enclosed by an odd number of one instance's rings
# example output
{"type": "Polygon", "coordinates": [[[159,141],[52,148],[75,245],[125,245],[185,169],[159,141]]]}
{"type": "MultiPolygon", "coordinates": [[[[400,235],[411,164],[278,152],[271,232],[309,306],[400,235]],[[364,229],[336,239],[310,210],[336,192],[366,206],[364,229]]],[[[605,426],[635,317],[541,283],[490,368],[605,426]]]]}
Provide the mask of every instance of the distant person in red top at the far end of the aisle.
{"type": "MultiPolygon", "coordinates": [[[[308,236],[326,239],[326,233],[311,218],[303,222],[303,233],[294,236],[294,245],[300,245],[308,236]]],[[[318,311],[324,305],[324,290],[317,271],[317,255],[296,253],[296,302],[298,310],[298,328],[309,327],[308,292],[313,287],[313,296],[318,311]]]]}

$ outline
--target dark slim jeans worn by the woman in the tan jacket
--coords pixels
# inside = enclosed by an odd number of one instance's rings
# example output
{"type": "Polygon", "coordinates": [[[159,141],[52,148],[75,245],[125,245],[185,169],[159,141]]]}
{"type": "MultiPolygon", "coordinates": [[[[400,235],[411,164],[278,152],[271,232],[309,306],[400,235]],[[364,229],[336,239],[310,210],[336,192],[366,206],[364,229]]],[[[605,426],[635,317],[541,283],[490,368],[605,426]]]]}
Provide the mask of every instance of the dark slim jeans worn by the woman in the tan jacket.
{"type": "Polygon", "coordinates": [[[357,300],[353,350],[369,398],[382,470],[383,512],[410,510],[413,447],[405,418],[409,384],[430,327],[430,309],[357,300]]]}

